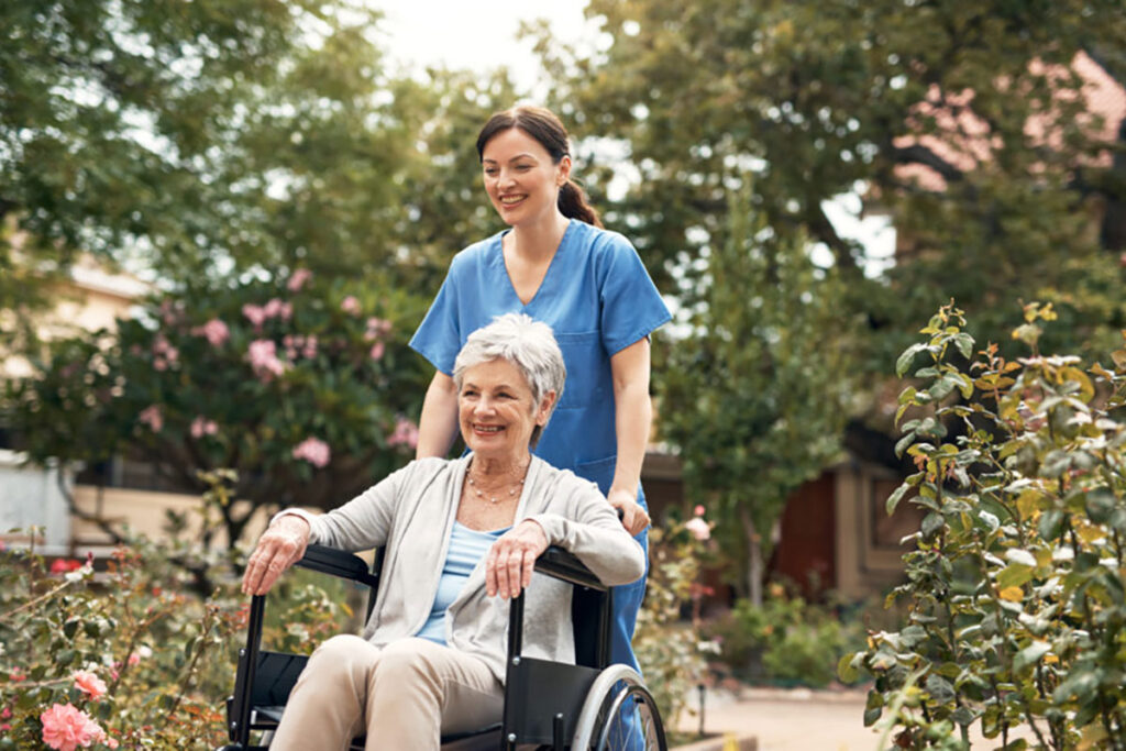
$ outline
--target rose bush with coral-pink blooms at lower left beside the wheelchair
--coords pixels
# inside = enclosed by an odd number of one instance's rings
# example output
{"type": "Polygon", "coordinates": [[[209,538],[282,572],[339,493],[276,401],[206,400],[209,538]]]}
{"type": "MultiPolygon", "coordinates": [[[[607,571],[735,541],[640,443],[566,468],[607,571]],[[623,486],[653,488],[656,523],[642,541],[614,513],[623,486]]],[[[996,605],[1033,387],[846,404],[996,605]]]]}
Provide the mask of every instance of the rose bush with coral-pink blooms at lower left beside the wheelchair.
{"type": "MultiPolygon", "coordinates": [[[[33,535],[34,537],[34,535],[33,535]]],[[[0,749],[216,748],[234,685],[247,600],[231,566],[206,558],[212,596],[177,561],[198,551],[143,539],[92,561],[47,566],[34,549],[0,551],[0,749]],[[83,746],[84,748],[84,746],[83,746]]],[[[307,573],[307,572],[305,572],[307,573]]],[[[279,588],[285,624],[270,644],[311,651],[339,629],[340,608],[301,576],[279,588]]],[[[272,596],[271,596],[272,597],[272,596]]]]}

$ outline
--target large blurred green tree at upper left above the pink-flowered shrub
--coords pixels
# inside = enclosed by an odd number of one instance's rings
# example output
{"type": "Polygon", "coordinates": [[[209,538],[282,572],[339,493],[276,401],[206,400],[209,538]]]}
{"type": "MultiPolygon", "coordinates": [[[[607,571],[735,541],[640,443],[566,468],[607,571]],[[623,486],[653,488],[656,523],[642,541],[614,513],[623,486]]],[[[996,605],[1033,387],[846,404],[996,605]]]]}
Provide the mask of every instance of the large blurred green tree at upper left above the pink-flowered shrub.
{"type": "Polygon", "coordinates": [[[172,285],[394,267],[436,288],[488,224],[473,137],[515,93],[388,74],[377,24],[351,0],[5,3],[3,307],[79,252],[172,285]]]}

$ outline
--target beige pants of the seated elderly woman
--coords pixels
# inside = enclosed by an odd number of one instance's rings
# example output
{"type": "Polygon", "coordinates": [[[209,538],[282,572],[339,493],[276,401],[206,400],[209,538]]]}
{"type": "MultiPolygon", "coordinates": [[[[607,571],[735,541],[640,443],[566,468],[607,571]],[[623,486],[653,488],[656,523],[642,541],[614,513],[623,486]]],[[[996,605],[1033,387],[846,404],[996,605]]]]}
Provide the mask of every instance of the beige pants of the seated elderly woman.
{"type": "Polygon", "coordinates": [[[374,646],[333,636],[313,652],[270,743],[275,751],[437,750],[443,733],[499,722],[503,688],[481,660],[425,638],[374,646]]]}

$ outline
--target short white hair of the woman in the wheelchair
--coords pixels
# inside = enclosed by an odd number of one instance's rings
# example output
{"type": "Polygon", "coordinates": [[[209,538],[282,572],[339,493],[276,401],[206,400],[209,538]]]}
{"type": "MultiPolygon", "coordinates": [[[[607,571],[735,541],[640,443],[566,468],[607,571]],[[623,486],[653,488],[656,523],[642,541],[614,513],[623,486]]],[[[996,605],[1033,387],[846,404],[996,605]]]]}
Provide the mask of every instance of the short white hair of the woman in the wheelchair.
{"type": "MultiPolygon", "coordinates": [[[[508,360],[520,370],[531,388],[533,410],[544,396],[555,392],[555,401],[547,413],[551,418],[566,382],[566,365],[552,328],[524,313],[498,315],[492,323],[471,333],[462,351],[457,354],[457,359],[454,360],[454,384],[457,390],[462,390],[468,368],[495,359],[508,360]]],[[[546,421],[544,424],[547,424],[546,421]]],[[[533,447],[539,440],[540,432],[540,426],[533,429],[533,447]]]]}

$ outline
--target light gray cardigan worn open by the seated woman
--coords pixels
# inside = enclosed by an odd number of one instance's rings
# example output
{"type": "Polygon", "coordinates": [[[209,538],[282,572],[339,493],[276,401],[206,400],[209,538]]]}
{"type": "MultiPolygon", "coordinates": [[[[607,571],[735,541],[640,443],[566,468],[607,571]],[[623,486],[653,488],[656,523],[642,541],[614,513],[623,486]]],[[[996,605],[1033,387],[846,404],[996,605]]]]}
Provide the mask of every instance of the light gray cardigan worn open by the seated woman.
{"type": "MultiPolygon", "coordinates": [[[[310,518],[310,542],[352,552],[386,547],[375,609],[364,628],[373,644],[412,636],[426,623],[468,458],[411,462],[345,506],[310,518]]],[[[626,584],[645,572],[641,545],[598,486],[535,456],[513,525],[529,518],[543,526],[549,545],[573,553],[606,584],[626,584]]],[[[534,575],[525,596],[524,653],[573,662],[570,613],[571,585],[534,575]]],[[[483,561],[447,610],[446,643],[479,656],[504,682],[508,600],[485,593],[483,561]]]]}

